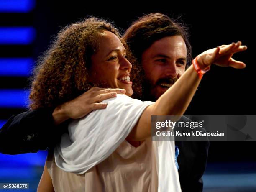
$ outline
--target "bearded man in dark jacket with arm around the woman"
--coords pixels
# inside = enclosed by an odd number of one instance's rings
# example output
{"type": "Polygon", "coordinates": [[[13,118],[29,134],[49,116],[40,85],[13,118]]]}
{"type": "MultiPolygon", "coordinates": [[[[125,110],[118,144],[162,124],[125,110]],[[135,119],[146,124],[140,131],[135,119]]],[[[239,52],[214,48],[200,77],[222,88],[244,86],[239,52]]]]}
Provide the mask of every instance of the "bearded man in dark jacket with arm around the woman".
{"type": "MultiPolygon", "coordinates": [[[[136,95],[143,100],[157,100],[185,72],[192,59],[186,31],[166,15],[145,15],[128,28],[123,38],[131,49],[133,67],[143,69],[139,74],[144,76],[142,95],[136,95]]],[[[68,119],[81,118],[91,110],[106,107],[97,105],[111,97],[106,91],[95,93],[95,90],[89,90],[56,109],[13,116],[0,130],[0,146],[9,145],[5,150],[0,147],[0,152],[18,154],[54,146],[60,134],[66,131],[68,119]],[[92,92],[96,94],[94,99],[92,92]],[[60,123],[61,126],[54,126],[60,123]]],[[[114,91],[121,92],[111,90],[114,91]]],[[[179,147],[177,161],[182,191],[202,191],[201,177],[207,161],[208,141],[176,141],[176,145],[179,147]]]]}

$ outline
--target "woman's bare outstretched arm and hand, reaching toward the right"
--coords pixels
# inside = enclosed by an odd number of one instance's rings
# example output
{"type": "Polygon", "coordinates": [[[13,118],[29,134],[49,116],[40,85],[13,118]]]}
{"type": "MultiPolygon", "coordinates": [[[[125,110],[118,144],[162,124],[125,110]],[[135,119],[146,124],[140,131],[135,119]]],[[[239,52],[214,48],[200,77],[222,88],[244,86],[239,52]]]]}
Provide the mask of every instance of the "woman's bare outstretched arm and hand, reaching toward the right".
{"type": "MultiPolygon", "coordinates": [[[[232,56],[234,53],[246,49],[246,46],[241,46],[240,41],[236,44],[222,45],[198,55],[196,57],[197,63],[200,69],[205,69],[211,64],[242,69],[245,64],[234,60],[232,56]]],[[[127,140],[142,141],[151,136],[151,115],[183,115],[197,90],[200,80],[194,66],[191,65],[177,82],[159,97],[156,103],[144,110],[127,140]]]]}

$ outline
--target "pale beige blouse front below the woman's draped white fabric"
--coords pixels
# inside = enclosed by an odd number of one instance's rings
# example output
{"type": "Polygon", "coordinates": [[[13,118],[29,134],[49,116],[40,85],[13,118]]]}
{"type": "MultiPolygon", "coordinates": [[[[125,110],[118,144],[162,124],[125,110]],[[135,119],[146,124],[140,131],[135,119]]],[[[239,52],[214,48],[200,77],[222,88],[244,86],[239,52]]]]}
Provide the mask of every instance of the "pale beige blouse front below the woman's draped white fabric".
{"type": "Polygon", "coordinates": [[[65,172],[48,154],[47,170],[55,192],[157,192],[158,177],[151,138],[134,147],[128,141],[84,174],[65,172]]]}

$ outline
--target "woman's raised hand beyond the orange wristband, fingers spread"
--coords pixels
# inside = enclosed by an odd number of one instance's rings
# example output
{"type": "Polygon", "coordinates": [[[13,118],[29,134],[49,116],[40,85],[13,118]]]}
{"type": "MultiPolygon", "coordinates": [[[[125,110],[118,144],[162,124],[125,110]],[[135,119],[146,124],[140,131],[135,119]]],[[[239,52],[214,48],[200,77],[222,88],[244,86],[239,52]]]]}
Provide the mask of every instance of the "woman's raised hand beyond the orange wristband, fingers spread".
{"type": "Polygon", "coordinates": [[[241,46],[241,41],[229,45],[218,46],[214,49],[209,49],[197,56],[197,62],[201,69],[205,69],[211,64],[221,67],[234,67],[243,69],[246,67],[241,61],[236,61],[232,58],[233,54],[245,51],[247,46],[241,46]]]}

